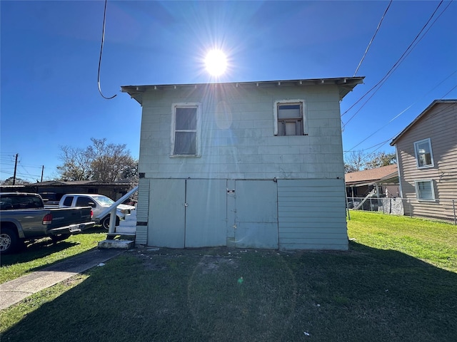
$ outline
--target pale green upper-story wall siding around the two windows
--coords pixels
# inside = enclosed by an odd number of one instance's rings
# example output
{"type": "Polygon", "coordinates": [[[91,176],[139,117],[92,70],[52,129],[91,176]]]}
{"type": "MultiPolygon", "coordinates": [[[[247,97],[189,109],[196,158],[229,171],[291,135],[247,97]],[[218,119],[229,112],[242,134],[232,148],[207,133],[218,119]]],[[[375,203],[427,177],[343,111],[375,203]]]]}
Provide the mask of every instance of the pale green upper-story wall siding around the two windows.
{"type": "Polygon", "coordinates": [[[146,178],[343,177],[338,87],[318,89],[149,91],[143,95],[139,172],[146,178]],[[273,103],[287,98],[305,101],[308,135],[273,135],[273,103]],[[170,157],[171,104],[177,102],[201,103],[201,157],[170,157]]]}

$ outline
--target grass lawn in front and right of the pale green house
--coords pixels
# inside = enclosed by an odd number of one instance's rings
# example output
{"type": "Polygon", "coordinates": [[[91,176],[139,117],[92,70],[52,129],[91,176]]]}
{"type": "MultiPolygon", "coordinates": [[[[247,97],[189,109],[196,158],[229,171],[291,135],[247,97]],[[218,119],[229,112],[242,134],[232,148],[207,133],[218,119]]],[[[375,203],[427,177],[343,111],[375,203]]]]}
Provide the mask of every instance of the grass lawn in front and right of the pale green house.
{"type": "Polygon", "coordinates": [[[0,311],[1,341],[457,341],[456,226],[351,212],[348,234],[348,252],[134,249],[0,311]]]}

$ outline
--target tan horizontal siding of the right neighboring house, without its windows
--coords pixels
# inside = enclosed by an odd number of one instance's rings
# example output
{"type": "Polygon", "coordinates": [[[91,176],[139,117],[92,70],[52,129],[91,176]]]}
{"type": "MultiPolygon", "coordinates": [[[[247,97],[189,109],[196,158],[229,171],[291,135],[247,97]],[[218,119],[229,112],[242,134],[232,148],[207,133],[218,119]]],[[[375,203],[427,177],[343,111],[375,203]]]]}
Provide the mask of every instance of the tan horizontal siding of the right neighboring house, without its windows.
{"type": "Polygon", "coordinates": [[[436,103],[396,141],[406,215],[453,219],[457,203],[457,104],[436,103]],[[414,142],[431,139],[433,167],[418,168],[414,142]],[[434,202],[416,198],[415,181],[433,180],[434,202]]]}

